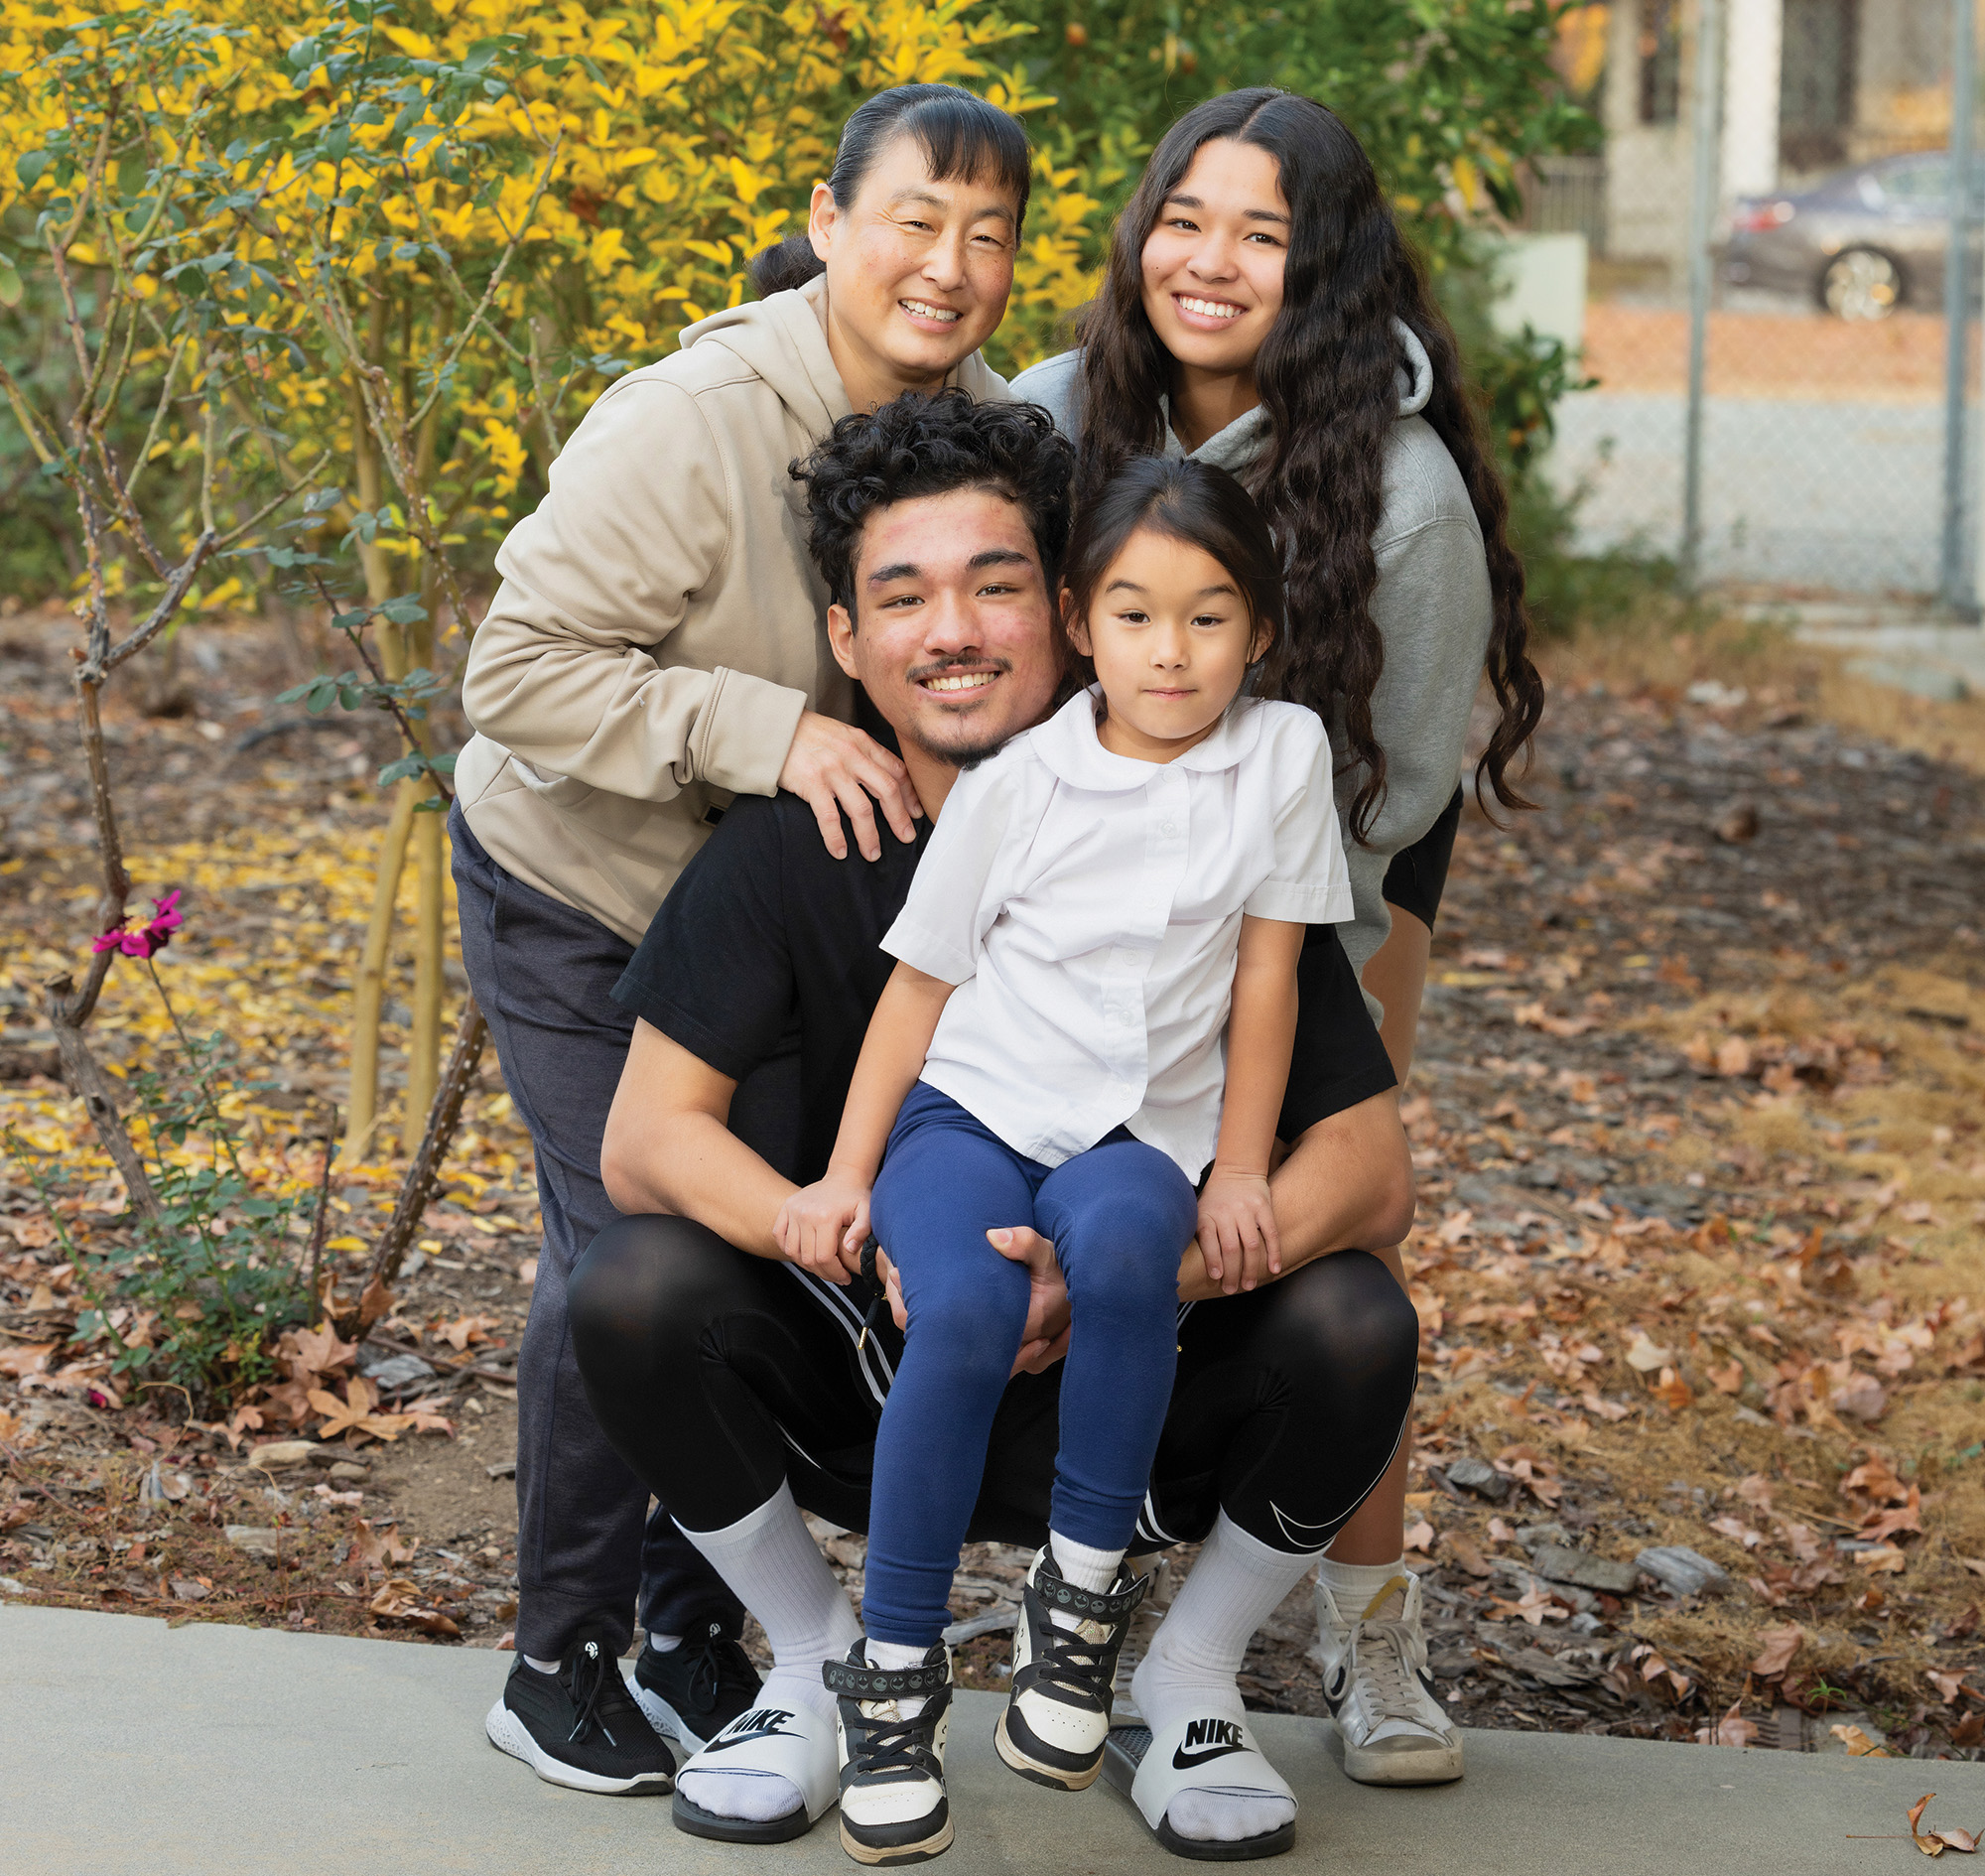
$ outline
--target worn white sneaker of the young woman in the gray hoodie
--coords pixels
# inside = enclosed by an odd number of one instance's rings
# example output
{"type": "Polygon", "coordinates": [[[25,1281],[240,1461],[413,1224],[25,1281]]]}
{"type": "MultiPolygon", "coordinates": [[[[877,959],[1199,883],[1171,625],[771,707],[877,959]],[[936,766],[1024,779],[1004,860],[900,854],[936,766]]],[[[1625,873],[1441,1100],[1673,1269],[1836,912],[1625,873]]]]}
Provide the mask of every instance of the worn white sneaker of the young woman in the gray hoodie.
{"type": "Polygon", "coordinates": [[[1449,1785],[1461,1777],[1461,1729],[1427,1674],[1419,1578],[1393,1576],[1358,1614],[1316,1584],[1316,1660],[1324,1701],[1360,1785],[1449,1785]]]}

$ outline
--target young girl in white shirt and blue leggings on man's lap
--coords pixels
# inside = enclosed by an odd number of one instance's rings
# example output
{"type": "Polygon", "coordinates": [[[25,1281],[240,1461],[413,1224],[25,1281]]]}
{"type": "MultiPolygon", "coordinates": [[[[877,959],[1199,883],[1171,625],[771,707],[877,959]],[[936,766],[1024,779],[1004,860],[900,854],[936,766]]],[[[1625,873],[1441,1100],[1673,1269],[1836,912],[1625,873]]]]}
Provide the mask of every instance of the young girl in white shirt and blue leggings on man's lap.
{"type": "Polygon", "coordinates": [[[1284,619],[1241,484],[1127,465],[1076,518],[1062,605],[1096,681],[955,784],[883,939],[899,963],[828,1173],[776,1227],[788,1257],[838,1273],[873,1221],[909,1312],[875,1441],[865,1644],[826,1668],[863,1862],[951,1842],[941,1632],[1028,1308],[1028,1271],[987,1233],[1032,1225],[1068,1280],[1050,1539],[998,1751],[1078,1791],[1143,1594],[1124,1554],[1171,1396],[1179,1259],[1197,1235],[1215,1278],[1280,1271],[1268,1157],[1296,959],[1306,925],[1352,913],[1324,727],[1243,695],[1284,619]]]}

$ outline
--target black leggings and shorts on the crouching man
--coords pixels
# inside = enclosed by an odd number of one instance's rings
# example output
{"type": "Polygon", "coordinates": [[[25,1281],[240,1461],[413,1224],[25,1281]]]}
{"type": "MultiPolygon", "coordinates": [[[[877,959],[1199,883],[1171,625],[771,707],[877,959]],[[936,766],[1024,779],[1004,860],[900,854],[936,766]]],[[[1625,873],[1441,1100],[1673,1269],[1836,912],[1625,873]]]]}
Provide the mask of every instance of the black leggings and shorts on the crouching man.
{"type": "MultiPolygon", "coordinates": [[[[607,1439],[685,1531],[734,1525],[786,1481],[867,1531],[901,1338],[856,1354],[863,1300],[689,1219],[633,1217],[572,1273],[572,1342],[607,1439]]],[[[1413,1306],[1366,1251],[1187,1306],[1137,1548],[1197,1542],[1223,1509],[1278,1550],[1324,1548],[1391,1461],[1417,1362],[1413,1306]]],[[[1060,1364],[1006,1386],[971,1539],[1046,1541],[1060,1386],[1060,1364]]]]}

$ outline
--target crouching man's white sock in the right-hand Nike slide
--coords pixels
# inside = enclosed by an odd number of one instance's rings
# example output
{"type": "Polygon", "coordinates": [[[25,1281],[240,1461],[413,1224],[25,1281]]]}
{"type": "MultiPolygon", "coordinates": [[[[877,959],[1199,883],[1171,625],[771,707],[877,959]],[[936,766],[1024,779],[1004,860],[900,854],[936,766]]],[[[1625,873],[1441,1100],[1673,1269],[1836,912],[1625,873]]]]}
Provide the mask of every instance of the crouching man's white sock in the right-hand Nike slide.
{"type": "MultiPolygon", "coordinates": [[[[1151,1731],[1203,1713],[1247,1715],[1235,1681],[1247,1644],[1314,1562],[1316,1552],[1274,1550],[1225,1511],[1219,1515],[1199,1562],[1151,1638],[1151,1652],[1131,1675],[1131,1697],[1151,1731]]],[[[1239,1842],[1280,1830],[1296,1812],[1276,1791],[1193,1787],[1181,1791],[1165,1814],[1179,1836],[1239,1842]]]]}

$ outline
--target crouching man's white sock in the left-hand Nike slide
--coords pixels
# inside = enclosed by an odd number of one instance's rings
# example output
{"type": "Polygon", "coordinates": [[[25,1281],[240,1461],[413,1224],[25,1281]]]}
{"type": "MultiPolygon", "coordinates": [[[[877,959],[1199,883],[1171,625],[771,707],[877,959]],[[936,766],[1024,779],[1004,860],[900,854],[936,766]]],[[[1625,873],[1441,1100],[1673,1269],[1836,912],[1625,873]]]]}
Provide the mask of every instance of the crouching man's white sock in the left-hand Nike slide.
{"type": "MultiPolygon", "coordinates": [[[[834,1695],[820,1683],[820,1664],[842,1660],[861,1636],[854,1604],[836,1582],[806,1529],[792,1487],[780,1489],[756,1511],[723,1531],[683,1531],[764,1628],[772,1644],[772,1672],[760,1703],[796,1707],[834,1721],[834,1695]]],[[[719,1816],[786,1816],[806,1803],[790,1779],[768,1773],[685,1771],[677,1785],[693,1805],[719,1816]]]]}

